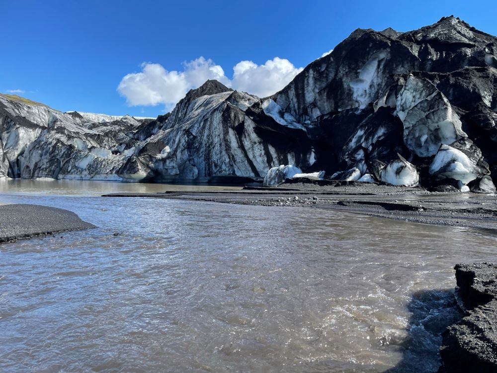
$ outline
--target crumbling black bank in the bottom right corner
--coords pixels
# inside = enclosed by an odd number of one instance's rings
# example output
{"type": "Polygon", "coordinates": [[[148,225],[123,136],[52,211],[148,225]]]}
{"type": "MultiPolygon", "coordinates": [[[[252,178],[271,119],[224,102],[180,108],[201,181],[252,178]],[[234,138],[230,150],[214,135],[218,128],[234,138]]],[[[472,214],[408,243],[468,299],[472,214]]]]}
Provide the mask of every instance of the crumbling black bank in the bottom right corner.
{"type": "Polygon", "coordinates": [[[458,264],[454,269],[466,316],[443,333],[439,372],[497,372],[497,265],[458,264]]]}

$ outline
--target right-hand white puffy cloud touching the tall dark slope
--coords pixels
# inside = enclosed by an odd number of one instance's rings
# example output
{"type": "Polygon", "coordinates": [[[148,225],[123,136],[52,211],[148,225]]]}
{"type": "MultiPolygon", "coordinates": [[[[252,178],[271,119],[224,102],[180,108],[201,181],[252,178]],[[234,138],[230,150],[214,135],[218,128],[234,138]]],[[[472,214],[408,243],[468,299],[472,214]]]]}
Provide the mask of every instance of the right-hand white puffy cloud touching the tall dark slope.
{"type": "Polygon", "coordinates": [[[303,68],[279,57],[256,65],[252,61],[242,61],[233,68],[233,88],[255,94],[269,96],[283,89],[303,68]]]}

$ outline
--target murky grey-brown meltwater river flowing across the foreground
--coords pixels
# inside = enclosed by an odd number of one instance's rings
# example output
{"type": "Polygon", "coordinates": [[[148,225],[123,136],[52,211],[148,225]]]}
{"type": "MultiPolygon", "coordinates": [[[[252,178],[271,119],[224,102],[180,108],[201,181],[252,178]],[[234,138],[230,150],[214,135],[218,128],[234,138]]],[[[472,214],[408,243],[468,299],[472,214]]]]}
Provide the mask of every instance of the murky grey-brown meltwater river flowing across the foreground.
{"type": "Polygon", "coordinates": [[[488,231],[28,182],[0,203],[99,228],[0,245],[1,372],[435,372],[452,267],[497,260],[488,231]]]}

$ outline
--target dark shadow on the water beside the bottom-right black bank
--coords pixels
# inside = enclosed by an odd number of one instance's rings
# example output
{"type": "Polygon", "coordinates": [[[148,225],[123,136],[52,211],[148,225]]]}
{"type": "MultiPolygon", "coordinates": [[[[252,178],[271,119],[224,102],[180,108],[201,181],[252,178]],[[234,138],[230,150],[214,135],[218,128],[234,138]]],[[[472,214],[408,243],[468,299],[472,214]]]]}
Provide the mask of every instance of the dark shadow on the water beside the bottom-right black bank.
{"type": "Polygon", "coordinates": [[[417,291],[408,308],[411,312],[409,337],[399,346],[403,358],[385,373],[437,372],[441,364],[438,349],[442,332],[463,316],[457,308],[454,290],[417,291]]]}

